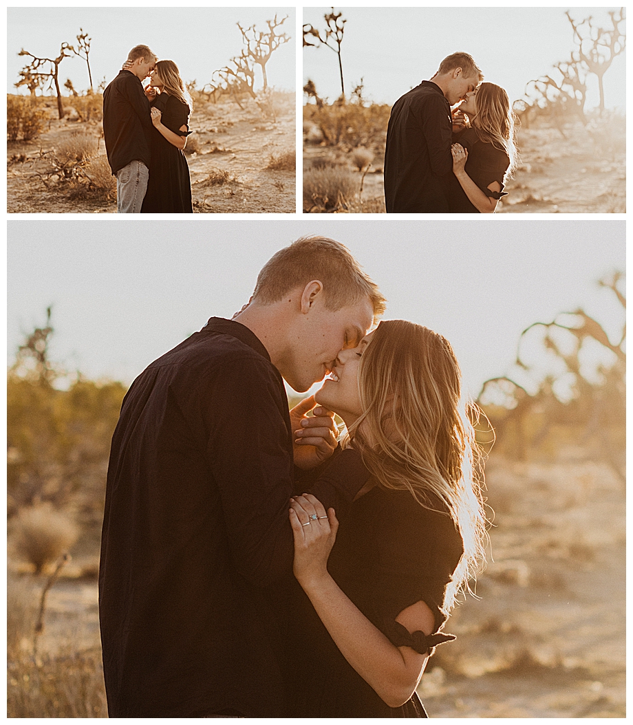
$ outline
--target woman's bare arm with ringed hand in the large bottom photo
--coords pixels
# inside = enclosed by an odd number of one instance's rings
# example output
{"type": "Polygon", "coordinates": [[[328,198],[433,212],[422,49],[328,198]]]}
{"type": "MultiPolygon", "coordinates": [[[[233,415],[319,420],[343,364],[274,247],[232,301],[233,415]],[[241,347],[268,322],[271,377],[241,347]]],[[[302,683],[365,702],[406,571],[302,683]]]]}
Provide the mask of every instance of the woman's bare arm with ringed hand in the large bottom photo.
{"type": "MultiPolygon", "coordinates": [[[[420,682],[429,655],[412,647],[396,647],[349,600],[327,571],[327,560],[338,521],[334,509],[326,515],[310,494],[291,500],[290,523],[294,533],[294,575],[326,626],[344,658],[391,708],[410,699],[420,682]],[[303,526],[310,514],[318,518],[303,526]]],[[[434,617],[425,602],[416,602],[396,618],[410,633],[431,634],[434,617]]],[[[297,632],[297,636],[301,636],[297,632]]],[[[310,656],[310,653],[306,653],[310,656]]]]}

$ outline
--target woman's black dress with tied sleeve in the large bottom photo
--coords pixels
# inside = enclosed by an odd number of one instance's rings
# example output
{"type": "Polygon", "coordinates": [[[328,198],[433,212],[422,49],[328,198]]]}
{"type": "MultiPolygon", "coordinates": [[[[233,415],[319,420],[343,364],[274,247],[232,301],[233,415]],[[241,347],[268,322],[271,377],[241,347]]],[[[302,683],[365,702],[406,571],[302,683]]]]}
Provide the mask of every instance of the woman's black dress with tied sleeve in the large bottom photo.
{"type": "MultiPolygon", "coordinates": [[[[438,508],[435,506],[434,508],[438,508]]],[[[425,653],[453,639],[438,633],[445,621],[444,589],[463,552],[447,515],[423,508],[408,491],[376,488],[354,502],[339,526],[328,571],[361,612],[394,645],[425,653]],[[423,600],[435,617],[434,637],[413,635],[395,621],[423,600]]],[[[390,708],[334,644],[310,600],[297,591],[290,639],[292,715],[317,718],[426,717],[418,695],[390,708]]]]}

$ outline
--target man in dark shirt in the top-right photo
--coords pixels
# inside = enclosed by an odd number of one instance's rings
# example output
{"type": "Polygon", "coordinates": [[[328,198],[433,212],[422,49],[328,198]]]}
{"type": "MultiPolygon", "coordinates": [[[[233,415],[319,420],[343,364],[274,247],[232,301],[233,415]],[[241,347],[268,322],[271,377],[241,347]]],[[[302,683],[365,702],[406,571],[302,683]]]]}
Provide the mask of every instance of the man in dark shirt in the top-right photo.
{"type": "Polygon", "coordinates": [[[450,107],[483,79],[468,53],[453,53],[444,58],[431,80],[423,80],[395,102],[384,157],[387,213],[449,211],[450,107]]]}

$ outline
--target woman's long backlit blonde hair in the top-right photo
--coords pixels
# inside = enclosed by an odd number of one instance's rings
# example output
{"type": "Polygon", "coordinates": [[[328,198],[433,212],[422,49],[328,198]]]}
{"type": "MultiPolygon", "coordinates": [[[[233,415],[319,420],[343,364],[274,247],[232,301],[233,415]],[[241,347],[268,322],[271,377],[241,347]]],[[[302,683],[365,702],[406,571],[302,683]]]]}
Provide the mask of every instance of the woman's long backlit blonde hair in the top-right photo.
{"type": "Polygon", "coordinates": [[[471,118],[471,126],[477,129],[482,141],[492,144],[495,149],[505,151],[510,157],[508,175],[518,166],[516,147],[515,113],[505,89],[495,83],[481,83],[475,96],[476,115],[471,118]]]}

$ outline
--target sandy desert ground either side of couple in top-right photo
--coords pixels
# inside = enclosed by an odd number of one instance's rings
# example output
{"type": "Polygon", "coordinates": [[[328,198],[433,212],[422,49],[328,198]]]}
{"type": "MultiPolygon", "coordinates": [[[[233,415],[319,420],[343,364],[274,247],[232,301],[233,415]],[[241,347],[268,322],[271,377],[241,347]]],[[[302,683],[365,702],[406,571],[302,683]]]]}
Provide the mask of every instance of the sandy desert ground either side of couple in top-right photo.
{"type": "MultiPolygon", "coordinates": [[[[508,196],[497,205],[497,214],[626,212],[624,119],[592,120],[587,126],[570,124],[563,133],[545,123],[519,129],[521,163],[505,186],[508,196]]],[[[347,204],[328,208],[328,212],[385,212],[385,138],[386,134],[368,144],[373,161],[363,179],[350,159],[353,149],[310,143],[306,136],[304,174],[316,163],[343,167],[353,176],[353,193],[347,204]]],[[[304,210],[308,211],[305,205],[304,210]]]]}

